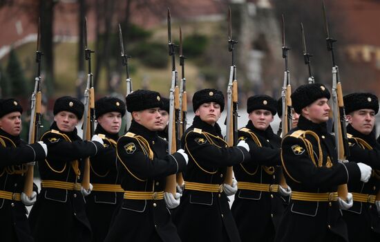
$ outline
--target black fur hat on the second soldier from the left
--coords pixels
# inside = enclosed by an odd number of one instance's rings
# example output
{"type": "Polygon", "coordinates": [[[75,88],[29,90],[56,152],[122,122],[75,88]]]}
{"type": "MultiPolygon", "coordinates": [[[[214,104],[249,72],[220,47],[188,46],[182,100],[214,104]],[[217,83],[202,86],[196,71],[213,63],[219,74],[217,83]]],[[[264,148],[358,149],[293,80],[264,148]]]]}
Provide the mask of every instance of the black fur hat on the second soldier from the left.
{"type": "Polygon", "coordinates": [[[74,113],[78,120],[82,119],[83,112],[84,112],[84,104],[82,104],[79,99],[76,97],[59,97],[57,100],[55,100],[53,113],[56,115],[60,111],[68,111],[71,113],[74,113]]]}

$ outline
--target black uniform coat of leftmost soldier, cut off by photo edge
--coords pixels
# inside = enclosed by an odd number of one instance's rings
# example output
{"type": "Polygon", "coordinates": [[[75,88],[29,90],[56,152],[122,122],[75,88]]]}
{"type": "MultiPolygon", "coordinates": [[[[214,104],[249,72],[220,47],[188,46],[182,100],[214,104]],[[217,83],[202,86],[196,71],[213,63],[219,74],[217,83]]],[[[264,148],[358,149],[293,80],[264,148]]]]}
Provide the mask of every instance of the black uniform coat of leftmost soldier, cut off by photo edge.
{"type": "MultiPolygon", "coordinates": [[[[45,151],[39,144],[27,145],[19,136],[0,129],[0,190],[21,193],[26,162],[44,160],[45,151]]],[[[1,241],[33,241],[26,217],[28,211],[21,201],[0,198],[1,241]]]]}

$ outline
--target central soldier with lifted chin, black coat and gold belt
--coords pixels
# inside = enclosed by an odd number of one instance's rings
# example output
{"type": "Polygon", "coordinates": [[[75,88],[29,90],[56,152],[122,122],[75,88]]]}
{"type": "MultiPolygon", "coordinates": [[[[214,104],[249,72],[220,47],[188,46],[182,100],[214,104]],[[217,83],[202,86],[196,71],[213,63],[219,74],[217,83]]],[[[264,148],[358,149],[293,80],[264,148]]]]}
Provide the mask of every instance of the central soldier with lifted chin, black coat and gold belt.
{"type": "Polygon", "coordinates": [[[193,124],[182,136],[191,158],[184,172],[184,192],[173,216],[178,234],[186,241],[240,241],[227,196],[236,193],[224,184],[228,166],[250,160],[249,147],[240,141],[228,147],[217,123],[225,107],[222,92],[203,89],[193,95],[193,124]]]}

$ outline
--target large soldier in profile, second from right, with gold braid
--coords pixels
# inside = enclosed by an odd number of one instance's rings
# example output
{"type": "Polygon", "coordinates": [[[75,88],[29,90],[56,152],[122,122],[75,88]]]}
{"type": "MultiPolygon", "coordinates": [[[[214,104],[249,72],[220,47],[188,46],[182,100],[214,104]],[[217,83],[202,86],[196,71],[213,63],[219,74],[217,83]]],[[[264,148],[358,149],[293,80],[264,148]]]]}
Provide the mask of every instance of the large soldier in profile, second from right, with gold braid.
{"type": "Polygon", "coordinates": [[[338,197],[337,187],[350,180],[368,181],[371,168],[337,161],[326,125],[330,92],[323,84],[299,86],[291,97],[294,111],[301,115],[296,129],[283,139],[281,159],[292,197],[275,241],[348,241],[339,209],[350,201],[338,197]]]}

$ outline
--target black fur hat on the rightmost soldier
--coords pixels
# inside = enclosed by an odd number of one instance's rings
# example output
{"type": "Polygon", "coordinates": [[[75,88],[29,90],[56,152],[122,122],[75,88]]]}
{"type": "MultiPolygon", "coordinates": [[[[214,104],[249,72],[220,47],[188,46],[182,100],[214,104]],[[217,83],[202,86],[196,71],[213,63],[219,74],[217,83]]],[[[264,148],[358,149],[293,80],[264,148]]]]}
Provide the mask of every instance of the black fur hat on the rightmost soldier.
{"type": "Polygon", "coordinates": [[[372,93],[350,93],[343,97],[343,103],[346,114],[359,109],[372,109],[375,114],[379,111],[379,100],[372,93]]]}

